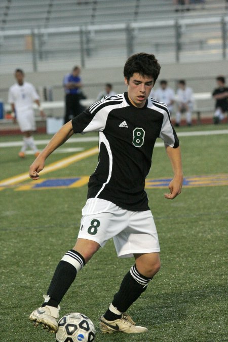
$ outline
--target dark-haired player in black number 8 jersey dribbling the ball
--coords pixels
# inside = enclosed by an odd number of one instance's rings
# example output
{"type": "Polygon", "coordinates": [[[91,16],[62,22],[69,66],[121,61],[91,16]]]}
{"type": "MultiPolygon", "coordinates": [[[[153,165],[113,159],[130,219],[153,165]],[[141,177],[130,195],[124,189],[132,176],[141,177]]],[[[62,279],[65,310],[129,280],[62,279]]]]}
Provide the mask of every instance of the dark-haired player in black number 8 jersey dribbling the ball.
{"type": "Polygon", "coordinates": [[[126,311],[160,269],[158,235],[144,190],[158,137],[164,140],[174,171],[165,198],[180,194],[183,179],[179,141],[167,106],[148,98],[159,72],[154,55],[129,57],[124,67],[128,91],[91,105],[64,125],[30,166],[30,177],[39,179],[46,158],[73,133],[99,132],[99,163],[89,180],[78,240],[57,265],[42,307],[30,315],[36,325],[57,331],[59,302],[85,263],[113,238],[118,256],[134,256],[135,264],[101,316],[100,329],[147,331],[136,326],[126,311]]]}

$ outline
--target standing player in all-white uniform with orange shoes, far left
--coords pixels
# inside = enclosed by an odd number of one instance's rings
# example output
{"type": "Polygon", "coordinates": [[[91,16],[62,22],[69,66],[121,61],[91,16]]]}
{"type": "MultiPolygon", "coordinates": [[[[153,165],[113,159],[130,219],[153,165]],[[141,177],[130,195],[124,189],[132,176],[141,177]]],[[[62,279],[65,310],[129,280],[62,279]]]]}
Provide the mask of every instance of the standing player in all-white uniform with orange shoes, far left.
{"type": "Polygon", "coordinates": [[[33,102],[37,104],[40,109],[40,115],[45,117],[42,105],[40,103],[39,95],[36,93],[35,88],[31,83],[24,82],[24,71],[21,69],[15,70],[15,79],[17,83],[9,89],[8,102],[11,104],[12,111],[14,112],[15,118],[20,126],[21,132],[23,132],[24,143],[19,152],[19,157],[25,157],[25,151],[27,147],[30,147],[35,157],[37,157],[40,152],[37,149],[32,131],[36,130],[33,102]]]}

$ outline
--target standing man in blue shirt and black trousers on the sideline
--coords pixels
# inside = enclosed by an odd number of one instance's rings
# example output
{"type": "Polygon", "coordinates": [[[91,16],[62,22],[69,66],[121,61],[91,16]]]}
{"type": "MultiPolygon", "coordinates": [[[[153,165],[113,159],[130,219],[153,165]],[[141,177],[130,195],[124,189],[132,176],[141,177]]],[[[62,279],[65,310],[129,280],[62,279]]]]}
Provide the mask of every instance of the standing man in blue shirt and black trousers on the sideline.
{"type": "Polygon", "coordinates": [[[65,75],[63,79],[63,87],[65,90],[64,124],[79,115],[84,109],[80,104],[80,100],[82,99],[82,79],[80,73],[80,67],[74,66],[71,73],[65,75]]]}

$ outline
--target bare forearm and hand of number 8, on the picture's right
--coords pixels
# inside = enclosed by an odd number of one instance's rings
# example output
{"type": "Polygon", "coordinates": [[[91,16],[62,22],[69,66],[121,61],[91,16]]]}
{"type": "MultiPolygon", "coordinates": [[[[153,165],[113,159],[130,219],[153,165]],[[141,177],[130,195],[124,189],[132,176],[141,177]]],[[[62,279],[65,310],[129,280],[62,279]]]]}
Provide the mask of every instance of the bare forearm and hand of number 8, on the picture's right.
{"type": "Polygon", "coordinates": [[[177,148],[165,145],[166,153],[170,159],[174,177],[169,183],[170,194],[165,194],[165,198],[173,200],[176,196],[181,193],[182,183],[183,183],[183,171],[181,162],[180,147],[177,148]]]}

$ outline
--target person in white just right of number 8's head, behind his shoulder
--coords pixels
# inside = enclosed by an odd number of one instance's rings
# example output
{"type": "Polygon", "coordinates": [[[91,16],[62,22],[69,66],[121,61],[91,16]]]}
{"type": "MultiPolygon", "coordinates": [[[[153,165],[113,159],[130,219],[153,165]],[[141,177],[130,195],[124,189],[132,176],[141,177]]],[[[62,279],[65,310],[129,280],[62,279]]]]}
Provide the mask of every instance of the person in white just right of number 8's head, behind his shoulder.
{"type": "Polygon", "coordinates": [[[157,101],[165,103],[169,109],[170,115],[172,115],[175,94],[174,91],[168,87],[168,82],[166,80],[160,81],[160,87],[155,91],[154,97],[157,101]]]}

